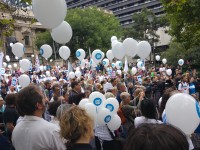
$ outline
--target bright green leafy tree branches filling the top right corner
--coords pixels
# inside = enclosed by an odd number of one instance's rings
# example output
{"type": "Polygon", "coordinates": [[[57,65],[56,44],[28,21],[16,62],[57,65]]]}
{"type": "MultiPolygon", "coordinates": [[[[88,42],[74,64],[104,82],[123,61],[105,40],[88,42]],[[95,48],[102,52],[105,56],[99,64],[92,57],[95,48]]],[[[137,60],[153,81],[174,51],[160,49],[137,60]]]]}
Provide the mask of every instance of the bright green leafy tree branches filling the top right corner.
{"type": "Polygon", "coordinates": [[[186,50],[200,46],[200,1],[161,0],[170,22],[170,35],[186,50]]]}

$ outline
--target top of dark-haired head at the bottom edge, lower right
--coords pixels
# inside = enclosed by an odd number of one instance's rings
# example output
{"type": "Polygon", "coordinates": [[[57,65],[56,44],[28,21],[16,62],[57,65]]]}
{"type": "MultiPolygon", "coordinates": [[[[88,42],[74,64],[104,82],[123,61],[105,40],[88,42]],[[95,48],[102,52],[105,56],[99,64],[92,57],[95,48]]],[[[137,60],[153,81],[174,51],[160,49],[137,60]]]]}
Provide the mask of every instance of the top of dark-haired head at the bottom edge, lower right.
{"type": "Polygon", "coordinates": [[[164,124],[143,124],[129,132],[124,150],[188,150],[185,135],[164,124]]]}

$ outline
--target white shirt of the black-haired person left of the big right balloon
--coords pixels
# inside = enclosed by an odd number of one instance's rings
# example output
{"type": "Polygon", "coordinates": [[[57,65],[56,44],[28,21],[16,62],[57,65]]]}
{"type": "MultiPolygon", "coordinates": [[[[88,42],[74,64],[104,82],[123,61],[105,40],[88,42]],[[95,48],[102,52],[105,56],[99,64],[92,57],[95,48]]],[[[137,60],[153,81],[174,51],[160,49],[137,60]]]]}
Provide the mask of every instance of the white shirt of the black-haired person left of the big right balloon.
{"type": "Polygon", "coordinates": [[[141,125],[143,123],[162,124],[163,122],[160,120],[156,120],[156,119],[148,119],[144,116],[135,118],[135,121],[134,121],[135,128],[137,128],[139,125],[141,125]]]}

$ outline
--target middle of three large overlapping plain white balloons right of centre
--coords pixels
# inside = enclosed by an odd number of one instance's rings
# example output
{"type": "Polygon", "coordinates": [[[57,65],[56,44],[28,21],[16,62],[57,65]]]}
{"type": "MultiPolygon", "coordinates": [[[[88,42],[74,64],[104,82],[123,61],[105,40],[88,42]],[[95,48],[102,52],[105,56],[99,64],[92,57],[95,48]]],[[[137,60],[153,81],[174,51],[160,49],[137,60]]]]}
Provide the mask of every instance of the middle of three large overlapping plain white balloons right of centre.
{"type": "Polygon", "coordinates": [[[126,38],[123,42],[124,50],[127,56],[134,57],[137,53],[138,42],[133,38],[126,38]]]}

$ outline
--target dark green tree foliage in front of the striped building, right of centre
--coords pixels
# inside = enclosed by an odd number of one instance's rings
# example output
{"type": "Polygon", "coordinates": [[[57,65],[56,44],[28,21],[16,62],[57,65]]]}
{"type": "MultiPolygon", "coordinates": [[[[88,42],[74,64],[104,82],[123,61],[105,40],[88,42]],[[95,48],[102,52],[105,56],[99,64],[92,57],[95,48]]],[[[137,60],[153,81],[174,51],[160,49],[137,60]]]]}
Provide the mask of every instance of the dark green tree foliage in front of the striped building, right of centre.
{"type": "Polygon", "coordinates": [[[133,37],[136,40],[146,40],[149,41],[149,36],[154,41],[157,42],[159,35],[155,31],[159,27],[167,26],[167,20],[165,17],[156,17],[155,14],[143,8],[140,13],[135,13],[133,15],[133,25],[130,28],[125,29],[125,35],[128,37],[133,37]],[[149,22],[148,17],[152,17],[152,22],[149,22]]]}

